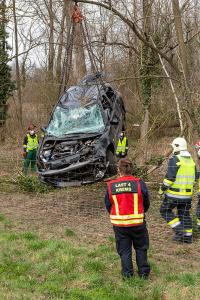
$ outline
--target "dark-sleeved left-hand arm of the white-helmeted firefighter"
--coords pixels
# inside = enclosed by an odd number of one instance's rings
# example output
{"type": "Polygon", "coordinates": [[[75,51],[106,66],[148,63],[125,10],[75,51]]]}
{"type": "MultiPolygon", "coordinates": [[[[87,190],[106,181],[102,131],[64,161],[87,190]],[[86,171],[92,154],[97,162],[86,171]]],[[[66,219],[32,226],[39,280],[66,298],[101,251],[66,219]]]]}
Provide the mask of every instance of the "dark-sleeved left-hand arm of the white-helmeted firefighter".
{"type": "Polygon", "coordinates": [[[161,190],[163,192],[166,191],[166,190],[168,190],[168,188],[176,180],[176,174],[178,172],[178,169],[180,168],[180,166],[177,165],[178,162],[179,162],[179,159],[178,159],[178,157],[176,155],[172,156],[169,159],[167,173],[165,175],[165,178],[163,180],[163,184],[161,186],[161,190]]]}

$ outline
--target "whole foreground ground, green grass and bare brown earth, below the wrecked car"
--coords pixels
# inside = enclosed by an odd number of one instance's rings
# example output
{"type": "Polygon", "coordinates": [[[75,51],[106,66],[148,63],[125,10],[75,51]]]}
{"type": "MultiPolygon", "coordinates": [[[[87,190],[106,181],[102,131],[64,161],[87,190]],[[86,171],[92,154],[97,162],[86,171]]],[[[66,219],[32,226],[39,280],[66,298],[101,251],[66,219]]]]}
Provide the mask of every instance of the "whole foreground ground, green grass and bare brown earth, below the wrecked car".
{"type": "Polygon", "coordinates": [[[150,187],[147,215],[150,278],[138,278],[135,268],[135,277],[123,281],[104,208],[106,184],[47,190],[36,178],[17,177],[12,161],[4,162],[0,299],[200,299],[200,233],[192,245],[174,243],[159,215],[156,189],[150,187]]]}

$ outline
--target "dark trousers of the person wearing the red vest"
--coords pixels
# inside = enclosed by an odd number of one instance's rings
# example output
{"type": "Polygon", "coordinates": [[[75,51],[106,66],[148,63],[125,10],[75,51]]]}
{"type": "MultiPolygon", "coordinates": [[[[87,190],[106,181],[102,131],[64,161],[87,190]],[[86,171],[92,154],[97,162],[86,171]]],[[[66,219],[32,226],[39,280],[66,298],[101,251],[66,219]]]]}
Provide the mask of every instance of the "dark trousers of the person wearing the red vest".
{"type": "Polygon", "coordinates": [[[149,248],[149,235],[146,225],[132,227],[113,226],[117,253],[121,258],[122,275],[133,276],[132,246],[136,252],[138,274],[148,277],[150,266],[147,262],[147,250],[149,248]]]}

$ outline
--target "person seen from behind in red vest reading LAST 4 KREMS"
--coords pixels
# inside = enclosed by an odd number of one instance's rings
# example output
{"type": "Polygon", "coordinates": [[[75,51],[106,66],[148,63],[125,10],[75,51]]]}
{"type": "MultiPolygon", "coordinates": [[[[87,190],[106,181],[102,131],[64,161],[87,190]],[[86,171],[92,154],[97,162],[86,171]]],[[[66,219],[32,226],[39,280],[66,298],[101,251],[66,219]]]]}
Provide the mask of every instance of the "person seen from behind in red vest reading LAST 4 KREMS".
{"type": "Polygon", "coordinates": [[[150,273],[147,261],[149,236],[144,214],[150,205],[149,195],[144,181],[132,176],[131,173],[131,161],[126,158],[120,159],[119,178],[108,182],[105,204],[113,224],[123,277],[133,276],[133,246],[136,252],[138,274],[142,278],[148,278],[150,273]]]}

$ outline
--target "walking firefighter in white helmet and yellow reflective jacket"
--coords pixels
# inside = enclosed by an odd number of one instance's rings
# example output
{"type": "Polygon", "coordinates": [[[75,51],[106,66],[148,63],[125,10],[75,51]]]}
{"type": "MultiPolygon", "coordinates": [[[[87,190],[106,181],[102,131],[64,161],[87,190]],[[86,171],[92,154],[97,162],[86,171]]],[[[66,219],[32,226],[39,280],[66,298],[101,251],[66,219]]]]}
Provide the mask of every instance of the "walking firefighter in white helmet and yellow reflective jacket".
{"type": "Polygon", "coordinates": [[[187,142],[178,137],[172,142],[173,155],[169,159],[167,174],[159,190],[164,195],[160,207],[161,216],[175,231],[175,240],[192,243],[192,219],[190,216],[196,167],[187,151],[187,142]],[[177,208],[177,215],[173,209],[177,208]]]}

